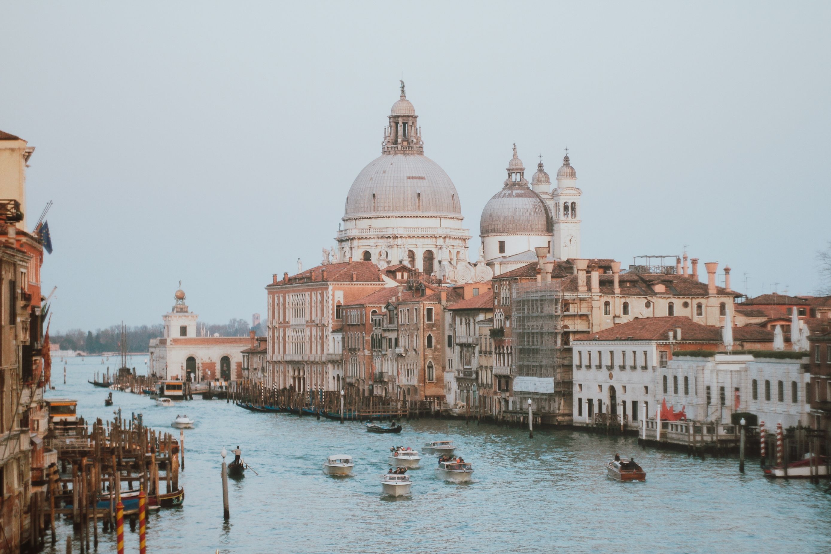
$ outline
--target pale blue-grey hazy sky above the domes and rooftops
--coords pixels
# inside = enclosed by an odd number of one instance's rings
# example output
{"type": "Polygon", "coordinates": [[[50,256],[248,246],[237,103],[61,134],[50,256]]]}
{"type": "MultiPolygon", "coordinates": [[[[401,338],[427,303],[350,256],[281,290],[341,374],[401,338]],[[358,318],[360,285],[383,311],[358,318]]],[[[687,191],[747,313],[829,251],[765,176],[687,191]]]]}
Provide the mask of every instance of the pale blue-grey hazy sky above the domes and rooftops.
{"type": "MultiPolygon", "coordinates": [[[[516,143],[568,146],[582,255],[686,251],[811,294],[831,240],[828,2],[2,2],[0,130],[36,147],[52,328],[265,311],[334,244],[399,79],[471,258],[516,143]]],[[[705,277],[706,278],[706,277],[705,277]]],[[[746,283],[746,286],[745,286],[746,283]]]]}

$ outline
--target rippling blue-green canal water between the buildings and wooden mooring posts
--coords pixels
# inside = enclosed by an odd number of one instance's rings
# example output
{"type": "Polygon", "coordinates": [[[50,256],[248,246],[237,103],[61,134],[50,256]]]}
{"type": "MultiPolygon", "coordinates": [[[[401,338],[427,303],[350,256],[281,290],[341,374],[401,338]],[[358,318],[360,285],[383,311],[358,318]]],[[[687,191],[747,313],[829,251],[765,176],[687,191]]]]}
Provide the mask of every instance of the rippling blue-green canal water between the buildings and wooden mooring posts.
{"type": "MultiPolygon", "coordinates": [[[[184,506],[150,514],[147,552],[831,552],[831,494],[812,485],[765,479],[754,461],[689,458],[642,450],[634,438],[576,431],[534,432],[475,422],[420,419],[398,435],[370,434],[358,423],[290,414],[258,414],[224,400],[157,406],[145,396],[87,383],[100,357],[53,360],[47,397],[78,400],[92,421],[143,414],[145,425],[171,430],[176,414],[196,420],[185,431],[184,506]],[[66,385],[63,368],[66,365],[66,385]],[[438,481],[435,458],[411,471],[409,498],[382,498],[389,448],[419,448],[451,439],[473,463],[473,483],[438,481]],[[229,522],[222,513],[219,451],[239,445],[258,473],[229,481],[229,522]],[[603,463],[632,454],[645,483],[617,483],[603,463]],[[328,454],[355,458],[352,478],[321,472],[328,454]]],[[[131,366],[145,370],[145,357],[131,366]]],[[[178,432],[176,433],[178,435],[178,432]]],[[[47,552],[65,552],[71,523],[58,525],[47,552]]],[[[101,537],[101,536],[100,536],[101,537]]],[[[116,552],[104,534],[99,552],[116,552]]],[[[138,529],[125,524],[126,552],[139,552],[138,529]]],[[[73,552],[79,552],[78,544],[73,552]]]]}

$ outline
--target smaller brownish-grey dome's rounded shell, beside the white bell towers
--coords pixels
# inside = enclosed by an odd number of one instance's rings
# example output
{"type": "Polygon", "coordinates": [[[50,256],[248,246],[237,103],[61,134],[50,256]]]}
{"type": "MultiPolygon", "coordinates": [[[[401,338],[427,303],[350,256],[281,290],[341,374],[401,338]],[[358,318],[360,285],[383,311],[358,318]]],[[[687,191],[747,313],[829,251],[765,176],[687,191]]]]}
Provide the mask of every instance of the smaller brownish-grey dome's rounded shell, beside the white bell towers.
{"type": "Polygon", "coordinates": [[[545,200],[527,185],[506,186],[484,205],[479,233],[551,234],[553,220],[545,200]]]}

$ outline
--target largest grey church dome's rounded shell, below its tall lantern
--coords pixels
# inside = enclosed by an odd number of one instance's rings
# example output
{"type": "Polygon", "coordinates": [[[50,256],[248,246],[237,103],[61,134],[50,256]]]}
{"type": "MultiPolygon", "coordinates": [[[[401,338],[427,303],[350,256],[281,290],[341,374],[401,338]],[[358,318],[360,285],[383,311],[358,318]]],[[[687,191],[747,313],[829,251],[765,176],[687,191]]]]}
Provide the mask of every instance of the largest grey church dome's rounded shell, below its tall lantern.
{"type": "Polygon", "coordinates": [[[344,219],[387,215],[462,218],[453,181],[423,154],[382,154],[352,183],[344,219]]]}

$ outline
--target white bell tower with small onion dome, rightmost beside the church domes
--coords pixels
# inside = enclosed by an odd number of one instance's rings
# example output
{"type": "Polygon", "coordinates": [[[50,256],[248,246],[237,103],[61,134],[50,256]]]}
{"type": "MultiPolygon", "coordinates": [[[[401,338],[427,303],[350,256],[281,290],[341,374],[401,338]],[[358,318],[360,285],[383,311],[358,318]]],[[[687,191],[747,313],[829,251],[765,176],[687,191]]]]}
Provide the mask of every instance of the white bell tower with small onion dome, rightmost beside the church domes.
{"type": "MultiPolygon", "coordinates": [[[[568,151],[567,151],[568,152],[568,151]]],[[[551,195],[554,215],[553,257],[560,260],[580,257],[580,196],[583,191],[577,187],[577,172],[568,159],[557,170],[557,188],[551,195]]]]}

